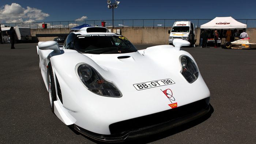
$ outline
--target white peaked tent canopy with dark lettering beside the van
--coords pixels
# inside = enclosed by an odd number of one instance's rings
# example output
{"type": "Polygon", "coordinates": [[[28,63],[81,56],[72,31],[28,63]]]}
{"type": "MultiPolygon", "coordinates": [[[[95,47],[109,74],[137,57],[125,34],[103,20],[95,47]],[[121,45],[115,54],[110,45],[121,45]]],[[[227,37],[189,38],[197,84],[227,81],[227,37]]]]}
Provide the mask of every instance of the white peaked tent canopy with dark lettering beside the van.
{"type": "Polygon", "coordinates": [[[237,22],[231,16],[229,17],[216,17],[208,23],[200,26],[201,29],[217,29],[217,30],[227,30],[227,29],[245,29],[246,24],[237,22]]]}

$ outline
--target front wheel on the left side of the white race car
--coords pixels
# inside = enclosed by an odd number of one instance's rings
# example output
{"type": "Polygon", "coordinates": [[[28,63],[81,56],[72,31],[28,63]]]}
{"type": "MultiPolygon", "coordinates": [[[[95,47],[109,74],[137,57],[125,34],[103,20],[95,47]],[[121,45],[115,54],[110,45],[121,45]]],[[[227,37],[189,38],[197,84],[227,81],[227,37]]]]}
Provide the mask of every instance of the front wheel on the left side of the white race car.
{"type": "Polygon", "coordinates": [[[52,71],[52,65],[49,64],[48,70],[47,70],[47,82],[48,82],[48,91],[49,91],[49,98],[50,98],[50,107],[52,112],[54,113],[54,101],[57,101],[56,97],[56,90],[55,90],[55,83],[54,83],[54,77],[53,77],[53,71],[52,71]]]}

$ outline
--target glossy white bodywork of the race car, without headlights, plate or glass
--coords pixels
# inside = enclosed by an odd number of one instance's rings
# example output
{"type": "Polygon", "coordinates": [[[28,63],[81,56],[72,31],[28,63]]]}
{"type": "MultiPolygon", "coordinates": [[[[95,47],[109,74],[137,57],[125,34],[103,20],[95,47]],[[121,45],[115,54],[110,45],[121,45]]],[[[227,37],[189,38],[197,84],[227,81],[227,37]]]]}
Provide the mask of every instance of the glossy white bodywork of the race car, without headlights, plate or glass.
{"type": "MultiPolygon", "coordinates": [[[[168,88],[172,90],[178,107],[210,96],[200,72],[193,83],[188,83],[180,73],[180,57],[186,55],[195,62],[193,57],[170,45],[153,46],[123,54],[81,54],[76,50],[63,49],[64,53],[49,58],[51,52],[53,50],[38,49],[46,88],[48,89],[49,61],[61,87],[63,104],[57,97],[57,101],[54,101],[54,113],[66,125],[75,124],[94,133],[111,134],[110,124],[172,109],[169,106],[170,100],[163,93],[168,88]],[[118,59],[120,56],[130,57],[118,59]],[[106,80],[113,82],[123,96],[106,97],[87,90],[75,72],[76,65],[81,62],[90,65],[106,80]],[[172,79],[175,84],[139,91],[133,86],[163,79],[172,79]]],[[[56,82],[55,77],[54,80],[56,82]]]]}

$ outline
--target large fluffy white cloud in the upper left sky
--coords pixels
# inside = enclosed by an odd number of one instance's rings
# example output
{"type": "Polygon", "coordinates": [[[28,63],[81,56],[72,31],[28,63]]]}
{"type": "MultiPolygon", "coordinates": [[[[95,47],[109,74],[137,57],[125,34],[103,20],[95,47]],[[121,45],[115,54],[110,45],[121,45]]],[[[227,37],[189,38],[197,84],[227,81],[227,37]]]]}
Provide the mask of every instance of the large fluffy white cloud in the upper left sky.
{"type": "Polygon", "coordinates": [[[43,20],[48,16],[49,14],[42,12],[42,10],[31,7],[23,8],[16,3],[0,7],[0,22],[35,22],[36,20],[43,20]]]}

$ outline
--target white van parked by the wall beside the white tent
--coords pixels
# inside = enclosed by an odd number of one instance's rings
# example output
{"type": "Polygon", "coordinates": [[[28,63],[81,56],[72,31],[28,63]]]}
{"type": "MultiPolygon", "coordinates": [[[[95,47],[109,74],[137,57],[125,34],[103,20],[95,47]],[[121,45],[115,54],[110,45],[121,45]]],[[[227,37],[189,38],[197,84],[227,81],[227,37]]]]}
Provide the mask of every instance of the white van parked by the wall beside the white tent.
{"type": "Polygon", "coordinates": [[[173,39],[184,39],[191,43],[191,46],[195,44],[195,29],[194,24],[190,21],[174,22],[172,31],[168,31],[169,44],[172,45],[173,39]]]}

